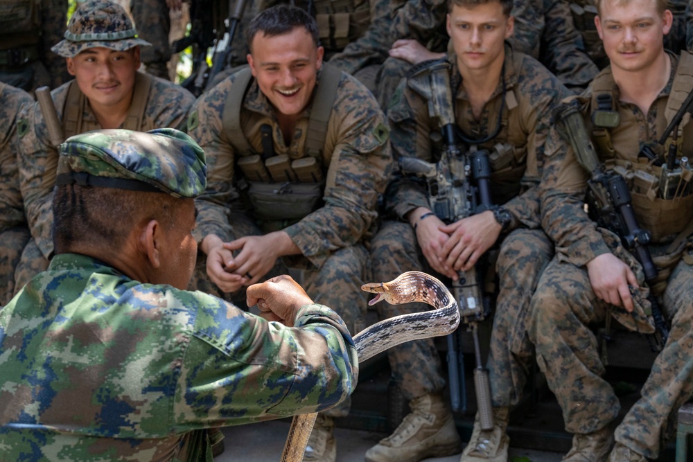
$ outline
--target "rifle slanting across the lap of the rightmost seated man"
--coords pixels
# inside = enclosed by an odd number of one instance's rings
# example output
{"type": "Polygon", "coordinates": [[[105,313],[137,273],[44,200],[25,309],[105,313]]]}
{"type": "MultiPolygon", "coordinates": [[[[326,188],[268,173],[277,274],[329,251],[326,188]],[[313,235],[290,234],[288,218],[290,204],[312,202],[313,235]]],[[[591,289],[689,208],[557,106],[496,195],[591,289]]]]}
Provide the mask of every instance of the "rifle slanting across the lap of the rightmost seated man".
{"type": "MultiPolygon", "coordinates": [[[[645,281],[652,283],[657,277],[657,268],[647,247],[651,235],[646,229],[640,228],[638,220],[635,220],[631,192],[624,177],[616,172],[606,172],[599,162],[577,100],[556,107],[554,121],[561,136],[570,142],[580,165],[590,173],[588,186],[596,202],[597,223],[617,233],[624,247],[633,252],[642,265],[645,281]]],[[[669,330],[655,296],[650,292],[647,299],[651,304],[656,327],[651,348],[653,351],[659,351],[667,342],[669,330]]]]}

